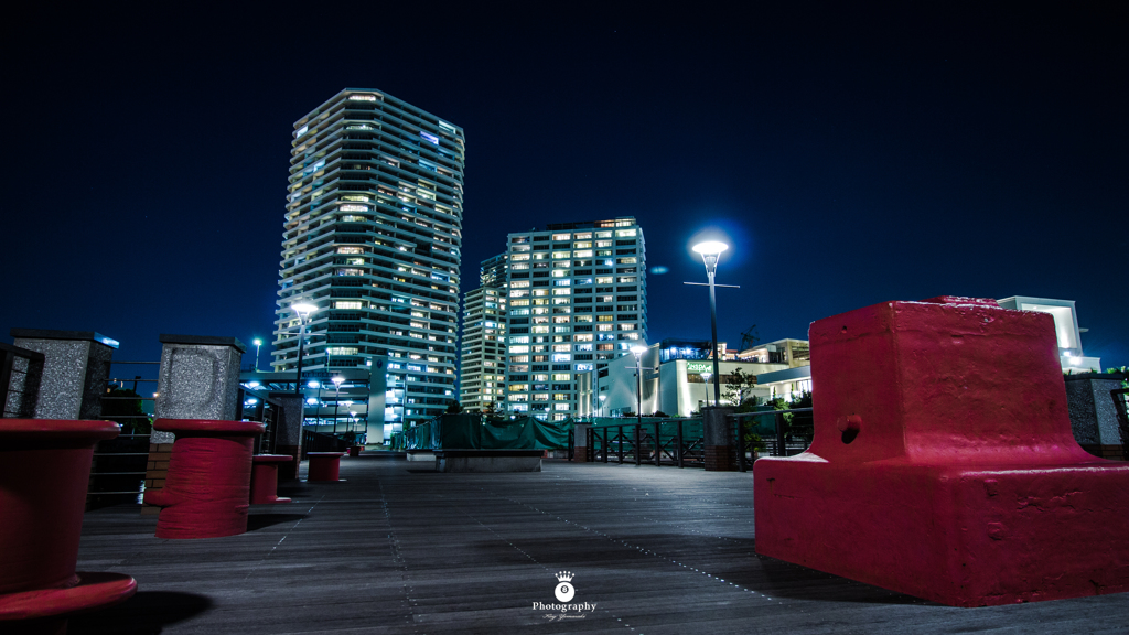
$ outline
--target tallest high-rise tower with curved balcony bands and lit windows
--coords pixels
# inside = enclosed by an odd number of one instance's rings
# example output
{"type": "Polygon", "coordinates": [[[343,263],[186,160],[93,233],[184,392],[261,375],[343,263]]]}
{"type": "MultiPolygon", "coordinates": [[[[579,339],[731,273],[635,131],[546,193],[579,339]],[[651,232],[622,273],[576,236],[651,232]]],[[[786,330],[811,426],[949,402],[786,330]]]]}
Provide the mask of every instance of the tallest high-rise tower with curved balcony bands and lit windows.
{"type": "Polygon", "coordinates": [[[272,366],[296,367],[290,306],[317,305],[304,368],[386,356],[387,437],[455,398],[463,130],[361,88],[294,128],[272,366]]]}

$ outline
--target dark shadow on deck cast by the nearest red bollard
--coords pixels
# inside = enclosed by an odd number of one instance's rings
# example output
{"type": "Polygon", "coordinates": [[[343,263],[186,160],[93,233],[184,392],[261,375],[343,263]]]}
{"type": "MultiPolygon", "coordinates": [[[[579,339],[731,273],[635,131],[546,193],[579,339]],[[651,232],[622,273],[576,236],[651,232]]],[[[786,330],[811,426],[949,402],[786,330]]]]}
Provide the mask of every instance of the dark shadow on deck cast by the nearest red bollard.
{"type": "Polygon", "coordinates": [[[67,632],[70,635],[149,635],[201,615],[211,607],[211,599],[195,593],[139,591],[116,607],[72,617],[67,632]]]}

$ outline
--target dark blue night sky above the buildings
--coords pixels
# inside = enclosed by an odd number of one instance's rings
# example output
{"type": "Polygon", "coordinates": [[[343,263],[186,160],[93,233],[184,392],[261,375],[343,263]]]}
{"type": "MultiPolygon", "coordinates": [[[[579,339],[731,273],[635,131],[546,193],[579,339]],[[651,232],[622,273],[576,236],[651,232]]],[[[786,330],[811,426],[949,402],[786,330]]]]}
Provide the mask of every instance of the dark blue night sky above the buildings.
{"type": "Polygon", "coordinates": [[[683,281],[720,232],[733,345],[1029,295],[1077,301],[1086,354],[1129,364],[1127,3],[408,5],[9,12],[3,341],[269,340],[292,123],[360,87],[465,130],[463,292],[508,232],[634,216],[669,270],[651,342],[709,337],[683,281]]]}

